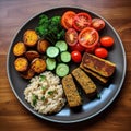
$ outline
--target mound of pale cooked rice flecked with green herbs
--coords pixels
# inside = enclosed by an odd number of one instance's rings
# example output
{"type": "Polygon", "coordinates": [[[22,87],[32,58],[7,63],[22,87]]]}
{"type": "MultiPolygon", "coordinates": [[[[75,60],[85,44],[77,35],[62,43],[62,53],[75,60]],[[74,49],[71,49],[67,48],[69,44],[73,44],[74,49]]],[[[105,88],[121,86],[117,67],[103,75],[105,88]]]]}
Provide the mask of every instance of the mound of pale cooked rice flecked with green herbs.
{"type": "Polygon", "coordinates": [[[60,78],[50,71],[32,78],[31,83],[24,90],[24,95],[34,110],[44,115],[58,112],[66,104],[60,78]]]}

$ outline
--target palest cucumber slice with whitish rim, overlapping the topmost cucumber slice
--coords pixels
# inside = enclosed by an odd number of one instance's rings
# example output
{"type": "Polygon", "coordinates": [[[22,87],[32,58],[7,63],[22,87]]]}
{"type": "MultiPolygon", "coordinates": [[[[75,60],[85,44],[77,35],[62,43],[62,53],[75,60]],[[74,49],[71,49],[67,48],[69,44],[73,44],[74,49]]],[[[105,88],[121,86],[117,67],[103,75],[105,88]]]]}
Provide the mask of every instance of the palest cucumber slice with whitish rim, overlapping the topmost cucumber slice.
{"type": "Polygon", "coordinates": [[[56,58],[59,55],[59,49],[55,46],[47,48],[46,53],[49,58],[56,58]]]}

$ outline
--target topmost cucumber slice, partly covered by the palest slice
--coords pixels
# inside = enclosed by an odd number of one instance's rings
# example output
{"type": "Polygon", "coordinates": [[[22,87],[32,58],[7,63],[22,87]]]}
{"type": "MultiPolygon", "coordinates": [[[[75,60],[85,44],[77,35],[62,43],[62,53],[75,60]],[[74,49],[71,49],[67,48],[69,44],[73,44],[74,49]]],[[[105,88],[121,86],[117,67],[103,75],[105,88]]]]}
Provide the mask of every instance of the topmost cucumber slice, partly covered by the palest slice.
{"type": "Polygon", "coordinates": [[[59,48],[60,52],[68,50],[68,45],[64,40],[57,41],[55,46],[59,48]]]}

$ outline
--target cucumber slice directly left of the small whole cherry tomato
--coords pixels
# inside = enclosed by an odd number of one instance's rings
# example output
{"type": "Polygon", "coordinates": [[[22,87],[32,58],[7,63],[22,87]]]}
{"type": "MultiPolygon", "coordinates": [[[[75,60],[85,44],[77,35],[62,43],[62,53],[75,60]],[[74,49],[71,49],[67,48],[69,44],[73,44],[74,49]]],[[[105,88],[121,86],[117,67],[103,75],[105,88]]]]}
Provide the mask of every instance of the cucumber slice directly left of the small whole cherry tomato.
{"type": "Polygon", "coordinates": [[[71,61],[71,55],[69,51],[63,51],[60,53],[60,59],[62,62],[70,62],[71,61]]]}

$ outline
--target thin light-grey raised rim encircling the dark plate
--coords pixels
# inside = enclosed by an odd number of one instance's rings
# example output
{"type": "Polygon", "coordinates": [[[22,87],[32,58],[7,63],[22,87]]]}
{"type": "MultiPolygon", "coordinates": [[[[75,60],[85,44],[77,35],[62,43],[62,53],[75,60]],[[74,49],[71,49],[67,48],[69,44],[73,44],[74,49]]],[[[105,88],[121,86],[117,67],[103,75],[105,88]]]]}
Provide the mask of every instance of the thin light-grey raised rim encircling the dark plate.
{"type": "Polygon", "coordinates": [[[122,85],[123,85],[123,82],[124,82],[124,79],[126,79],[126,72],[127,71],[127,58],[126,58],[126,50],[124,50],[124,47],[123,47],[123,44],[122,44],[122,40],[120,38],[120,36],[118,35],[117,31],[112,27],[112,25],[105,19],[103,17],[102,15],[95,13],[94,11],[92,10],[87,10],[87,9],[82,9],[81,7],[53,7],[53,8],[50,8],[50,9],[46,9],[44,11],[40,11],[36,14],[34,14],[33,16],[31,16],[29,19],[27,19],[27,21],[25,21],[19,28],[17,31],[15,32],[11,43],[10,43],[10,46],[9,46],[9,50],[8,50],[8,55],[7,55],[7,75],[8,75],[8,80],[9,80],[9,83],[10,83],[10,87],[12,88],[15,97],[19,99],[19,102],[28,110],[31,111],[33,115],[37,116],[38,118],[41,118],[41,119],[45,119],[45,120],[48,120],[48,121],[51,121],[51,122],[57,122],[57,123],[76,123],[76,122],[82,122],[82,121],[85,121],[85,120],[88,120],[91,118],[94,118],[95,116],[99,115],[100,112],[103,112],[115,99],[116,97],[118,96],[122,85]],[[123,72],[122,72],[122,78],[121,78],[121,82],[119,84],[119,87],[117,90],[117,92],[115,93],[115,95],[112,96],[112,98],[103,107],[100,108],[97,112],[88,116],[87,118],[84,117],[82,119],[76,119],[76,120],[72,120],[72,121],[64,121],[64,120],[55,120],[55,119],[50,119],[48,117],[45,117],[45,116],[40,116],[39,114],[36,114],[34,110],[32,110],[29,107],[27,107],[23,100],[20,98],[20,96],[16,94],[14,87],[13,87],[13,84],[12,84],[12,81],[11,81],[11,78],[10,78],[10,71],[9,71],[9,60],[10,60],[10,52],[11,52],[11,48],[12,48],[12,45],[13,45],[13,41],[16,37],[16,35],[19,34],[19,32],[24,27],[25,24],[27,24],[29,21],[32,21],[34,17],[38,16],[39,14],[44,13],[44,12],[47,12],[47,11],[51,11],[51,10],[56,10],[56,9],[76,9],[76,10],[83,10],[83,11],[86,11],[86,12],[90,12],[90,13],[93,13],[95,15],[97,15],[98,17],[103,19],[109,26],[110,28],[114,31],[115,35],[117,36],[118,40],[120,41],[120,46],[121,46],[121,50],[122,50],[122,56],[123,56],[123,72]]]}

